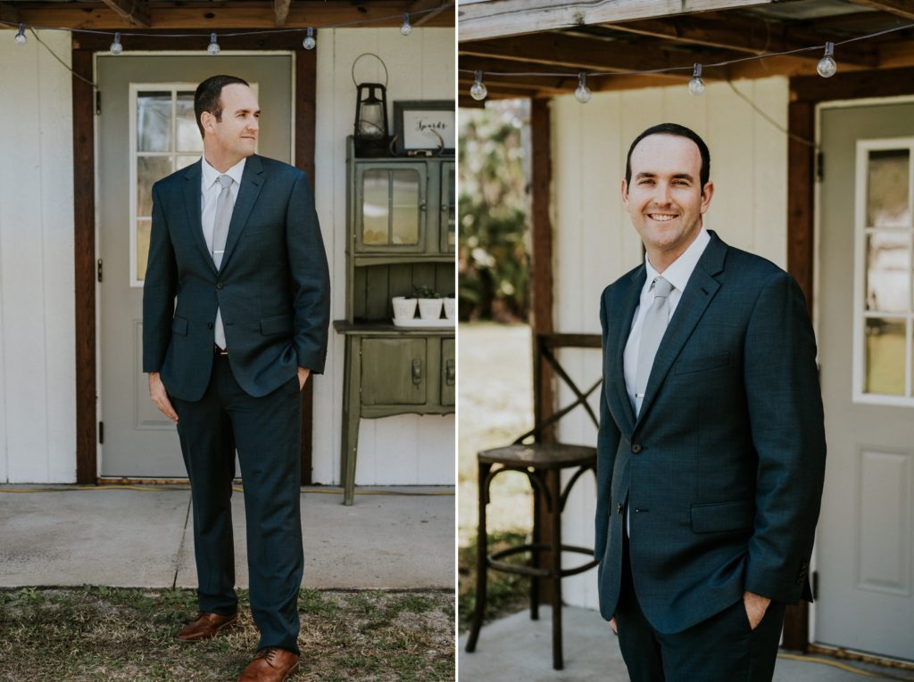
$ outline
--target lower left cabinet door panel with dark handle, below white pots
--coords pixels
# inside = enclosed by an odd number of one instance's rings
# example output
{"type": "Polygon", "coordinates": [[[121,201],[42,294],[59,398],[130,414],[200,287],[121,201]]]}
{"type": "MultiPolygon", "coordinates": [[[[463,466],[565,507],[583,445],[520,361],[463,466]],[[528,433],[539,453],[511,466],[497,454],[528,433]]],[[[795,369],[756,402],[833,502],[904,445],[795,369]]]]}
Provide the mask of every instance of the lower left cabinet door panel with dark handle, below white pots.
{"type": "Polygon", "coordinates": [[[426,339],[362,340],[362,404],[424,404],[428,400],[426,339]]]}

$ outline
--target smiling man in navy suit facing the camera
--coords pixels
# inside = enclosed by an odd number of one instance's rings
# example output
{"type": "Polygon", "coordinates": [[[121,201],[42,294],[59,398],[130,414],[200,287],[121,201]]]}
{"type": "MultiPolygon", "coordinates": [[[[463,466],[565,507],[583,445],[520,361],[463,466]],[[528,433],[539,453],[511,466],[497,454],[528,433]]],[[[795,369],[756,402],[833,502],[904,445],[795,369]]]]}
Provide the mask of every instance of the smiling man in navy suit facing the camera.
{"type": "Polygon", "coordinates": [[[709,173],[683,126],[632,142],[622,202],[645,262],[600,300],[600,612],[639,682],[771,680],[785,604],[812,600],[813,327],[787,273],[702,226],[709,173]]]}

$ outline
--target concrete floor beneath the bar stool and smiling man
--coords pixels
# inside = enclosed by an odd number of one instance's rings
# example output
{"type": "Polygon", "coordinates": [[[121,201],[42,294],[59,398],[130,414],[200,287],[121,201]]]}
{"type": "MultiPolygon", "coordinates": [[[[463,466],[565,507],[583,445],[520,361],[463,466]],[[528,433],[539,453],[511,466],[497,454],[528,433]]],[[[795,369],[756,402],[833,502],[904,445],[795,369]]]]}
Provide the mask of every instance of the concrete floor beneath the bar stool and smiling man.
{"type": "MultiPolygon", "coordinates": [[[[476,651],[467,654],[467,635],[458,644],[461,682],[628,682],[618,640],[596,611],[562,609],[565,669],[552,669],[551,609],[539,607],[539,620],[529,612],[486,624],[476,651]]],[[[861,682],[864,679],[914,680],[914,672],[839,661],[829,656],[796,656],[783,652],[774,668],[774,682],[861,682]],[[797,659],[800,660],[797,660],[797,659]]]]}

